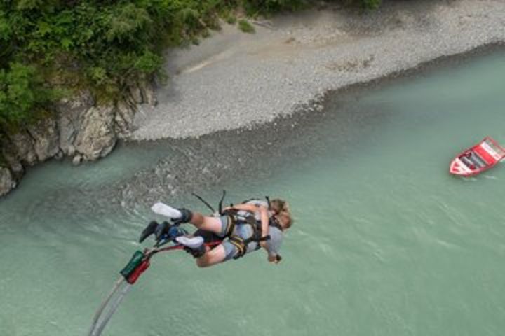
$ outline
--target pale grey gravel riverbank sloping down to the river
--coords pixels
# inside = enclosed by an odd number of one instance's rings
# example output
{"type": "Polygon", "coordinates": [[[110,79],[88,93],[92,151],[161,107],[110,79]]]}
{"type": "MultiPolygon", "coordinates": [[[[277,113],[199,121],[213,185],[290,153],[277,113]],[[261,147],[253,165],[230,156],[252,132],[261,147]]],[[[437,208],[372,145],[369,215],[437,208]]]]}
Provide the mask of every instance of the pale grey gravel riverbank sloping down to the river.
{"type": "Polygon", "coordinates": [[[223,24],[200,45],[167,53],[159,104],[140,109],[132,139],[198,137],[267,123],[328,90],[505,41],[505,1],[395,1],[371,13],[335,6],[223,24]]]}

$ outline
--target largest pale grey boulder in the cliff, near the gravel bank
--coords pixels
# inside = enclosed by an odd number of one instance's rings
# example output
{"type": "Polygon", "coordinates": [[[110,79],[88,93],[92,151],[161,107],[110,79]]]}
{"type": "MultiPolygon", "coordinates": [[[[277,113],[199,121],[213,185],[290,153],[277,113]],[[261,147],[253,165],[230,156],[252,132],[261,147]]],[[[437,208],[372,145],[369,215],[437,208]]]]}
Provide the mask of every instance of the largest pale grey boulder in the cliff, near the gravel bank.
{"type": "Polygon", "coordinates": [[[116,144],[112,105],[92,107],[84,114],[74,141],[77,152],[86,160],[97,160],[109,154],[116,144]]]}

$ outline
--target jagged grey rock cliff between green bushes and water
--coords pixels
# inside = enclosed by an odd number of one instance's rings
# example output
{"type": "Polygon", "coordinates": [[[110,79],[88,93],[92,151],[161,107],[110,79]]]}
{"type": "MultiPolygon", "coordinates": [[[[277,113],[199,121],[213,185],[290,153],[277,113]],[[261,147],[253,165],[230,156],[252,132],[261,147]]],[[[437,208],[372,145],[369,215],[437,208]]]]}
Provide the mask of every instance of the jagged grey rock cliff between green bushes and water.
{"type": "Polygon", "coordinates": [[[17,134],[0,137],[0,196],[18,185],[25,169],[50,158],[71,157],[75,165],[108,155],[130,134],[138,104],[156,105],[150,83],[132,85],[116,103],[98,106],[89,92],[64,99],[55,117],[17,134]]]}

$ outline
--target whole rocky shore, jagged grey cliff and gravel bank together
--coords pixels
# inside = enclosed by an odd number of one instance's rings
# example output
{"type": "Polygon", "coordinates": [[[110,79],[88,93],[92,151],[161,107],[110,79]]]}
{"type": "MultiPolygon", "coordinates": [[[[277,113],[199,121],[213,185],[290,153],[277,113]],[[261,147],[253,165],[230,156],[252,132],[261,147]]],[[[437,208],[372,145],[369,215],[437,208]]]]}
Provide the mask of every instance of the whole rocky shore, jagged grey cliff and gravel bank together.
{"type": "Polygon", "coordinates": [[[253,24],[255,34],[223,23],[200,45],[168,50],[170,77],[156,92],[137,83],[105,106],[81,92],[61,102],[53,120],[2,139],[0,196],[50,158],[79,164],[107,155],[121,138],[199,137],[268,123],[300,106],[310,113],[309,103],[329,90],[504,43],[505,1],[393,1],[369,13],[321,3],[253,24]]]}

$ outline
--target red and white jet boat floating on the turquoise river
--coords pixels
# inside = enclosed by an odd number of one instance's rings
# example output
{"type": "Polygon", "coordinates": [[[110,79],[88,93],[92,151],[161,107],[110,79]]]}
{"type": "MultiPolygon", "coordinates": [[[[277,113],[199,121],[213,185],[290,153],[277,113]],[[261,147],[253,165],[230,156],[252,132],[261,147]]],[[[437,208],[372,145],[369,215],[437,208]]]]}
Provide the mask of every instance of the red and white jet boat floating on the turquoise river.
{"type": "Polygon", "coordinates": [[[451,161],[449,172],[458,176],[474,176],[490,169],[505,158],[505,148],[491,137],[459,153],[451,161]]]}

